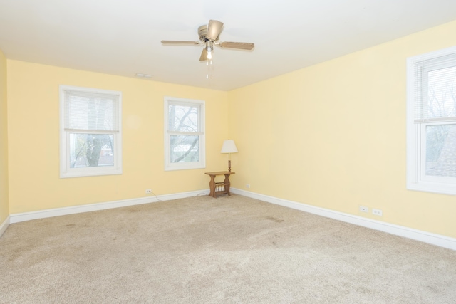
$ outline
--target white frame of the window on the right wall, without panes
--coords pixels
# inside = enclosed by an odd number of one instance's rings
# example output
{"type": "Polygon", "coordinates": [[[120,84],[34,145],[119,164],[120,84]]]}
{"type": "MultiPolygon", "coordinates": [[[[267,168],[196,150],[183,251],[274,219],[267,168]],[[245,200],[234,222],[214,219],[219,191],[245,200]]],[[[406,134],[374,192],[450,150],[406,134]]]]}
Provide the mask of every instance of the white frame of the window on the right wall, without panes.
{"type": "Polygon", "coordinates": [[[415,123],[415,83],[422,81],[424,86],[422,90],[427,90],[427,76],[425,73],[422,76],[416,75],[415,65],[454,53],[456,53],[456,46],[407,58],[407,189],[456,195],[456,178],[425,174],[426,127],[456,124],[456,119],[415,123]]]}

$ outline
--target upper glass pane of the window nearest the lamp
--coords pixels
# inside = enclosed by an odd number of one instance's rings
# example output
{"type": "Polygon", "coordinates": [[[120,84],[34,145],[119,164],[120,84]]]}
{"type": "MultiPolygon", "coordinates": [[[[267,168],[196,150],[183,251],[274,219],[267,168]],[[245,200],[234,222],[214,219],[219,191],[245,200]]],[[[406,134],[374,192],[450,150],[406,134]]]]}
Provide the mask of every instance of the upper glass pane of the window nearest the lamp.
{"type": "Polygon", "coordinates": [[[199,132],[198,107],[170,105],[168,108],[168,130],[179,132],[199,132]]]}

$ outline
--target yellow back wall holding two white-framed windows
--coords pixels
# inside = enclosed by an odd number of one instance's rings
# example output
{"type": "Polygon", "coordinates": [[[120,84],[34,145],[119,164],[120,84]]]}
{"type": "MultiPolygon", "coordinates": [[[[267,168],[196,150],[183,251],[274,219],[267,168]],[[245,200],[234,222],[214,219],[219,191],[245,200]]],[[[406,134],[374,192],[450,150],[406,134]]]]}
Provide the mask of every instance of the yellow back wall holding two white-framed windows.
{"type": "Polygon", "coordinates": [[[208,189],[208,170],[225,164],[227,93],[8,60],[9,211],[208,189]],[[59,178],[58,85],[123,93],[123,174],[59,178]],[[163,97],[206,101],[206,169],[164,171],[163,97]],[[214,152],[214,153],[212,153],[214,152]]]}

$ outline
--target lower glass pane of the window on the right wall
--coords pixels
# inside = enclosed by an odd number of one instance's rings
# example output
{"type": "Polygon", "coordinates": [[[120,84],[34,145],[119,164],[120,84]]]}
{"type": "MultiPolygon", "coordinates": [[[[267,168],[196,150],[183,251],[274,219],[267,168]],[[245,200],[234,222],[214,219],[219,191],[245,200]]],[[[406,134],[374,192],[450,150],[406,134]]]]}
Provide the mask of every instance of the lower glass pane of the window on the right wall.
{"type": "Polygon", "coordinates": [[[426,175],[456,177],[456,125],[426,126],[426,175]]]}

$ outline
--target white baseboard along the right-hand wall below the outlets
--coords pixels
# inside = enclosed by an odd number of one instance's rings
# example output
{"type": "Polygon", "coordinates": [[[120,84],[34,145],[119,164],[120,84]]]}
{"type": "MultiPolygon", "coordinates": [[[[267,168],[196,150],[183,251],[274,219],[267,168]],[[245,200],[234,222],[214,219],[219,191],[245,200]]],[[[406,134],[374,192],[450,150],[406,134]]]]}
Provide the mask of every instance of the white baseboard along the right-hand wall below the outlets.
{"type": "Polygon", "coordinates": [[[450,238],[449,236],[442,236],[440,234],[432,234],[427,231],[420,231],[418,229],[412,229],[405,226],[399,226],[395,224],[385,223],[383,221],[375,221],[373,219],[366,219],[361,216],[356,216],[352,214],[345,214],[338,211],[333,211],[329,209],[324,209],[316,206],[310,206],[306,204],[301,204],[296,201],[288,201],[286,199],[279,199],[274,196],[267,196],[263,194],[257,194],[254,192],[248,192],[242,189],[231,188],[230,191],[234,194],[239,194],[252,199],[259,199],[261,201],[266,201],[271,204],[277,204],[281,206],[286,206],[292,209],[297,209],[311,214],[316,214],[319,216],[325,216],[331,219],[336,219],[338,221],[345,221],[346,223],[355,224],[358,226],[363,226],[370,229],[375,229],[378,231],[383,231],[388,234],[394,234],[396,236],[403,236],[408,239],[413,239],[416,241],[422,241],[424,243],[430,243],[432,245],[440,246],[443,248],[449,248],[456,250],[456,239],[450,238]]]}

